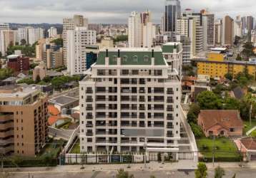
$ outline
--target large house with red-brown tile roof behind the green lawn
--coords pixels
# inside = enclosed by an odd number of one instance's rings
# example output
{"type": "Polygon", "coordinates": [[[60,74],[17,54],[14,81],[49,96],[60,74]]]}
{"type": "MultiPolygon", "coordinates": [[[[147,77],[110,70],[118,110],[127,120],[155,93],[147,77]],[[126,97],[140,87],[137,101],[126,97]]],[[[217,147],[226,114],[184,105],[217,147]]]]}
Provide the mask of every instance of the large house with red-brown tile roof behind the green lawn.
{"type": "Polygon", "coordinates": [[[197,123],[206,137],[242,137],[243,124],[238,110],[201,110],[197,123]]]}

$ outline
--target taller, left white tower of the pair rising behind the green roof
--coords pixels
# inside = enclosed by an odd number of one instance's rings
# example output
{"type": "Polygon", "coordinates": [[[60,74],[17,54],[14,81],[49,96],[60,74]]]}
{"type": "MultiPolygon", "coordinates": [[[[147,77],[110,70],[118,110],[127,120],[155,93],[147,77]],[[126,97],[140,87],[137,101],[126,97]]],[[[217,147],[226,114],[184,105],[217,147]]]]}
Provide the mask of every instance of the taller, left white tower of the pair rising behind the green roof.
{"type": "Polygon", "coordinates": [[[133,11],[128,19],[128,44],[129,48],[142,46],[142,21],[140,14],[133,11]]]}

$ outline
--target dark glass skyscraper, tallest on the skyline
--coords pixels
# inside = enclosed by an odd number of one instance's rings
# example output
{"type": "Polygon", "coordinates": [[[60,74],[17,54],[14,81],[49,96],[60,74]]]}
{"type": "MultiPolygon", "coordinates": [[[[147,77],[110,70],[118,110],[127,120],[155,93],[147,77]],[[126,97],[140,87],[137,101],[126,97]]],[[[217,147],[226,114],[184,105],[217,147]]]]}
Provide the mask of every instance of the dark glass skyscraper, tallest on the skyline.
{"type": "Polygon", "coordinates": [[[176,32],[177,19],[181,17],[179,0],[166,0],[164,6],[164,31],[176,32]]]}

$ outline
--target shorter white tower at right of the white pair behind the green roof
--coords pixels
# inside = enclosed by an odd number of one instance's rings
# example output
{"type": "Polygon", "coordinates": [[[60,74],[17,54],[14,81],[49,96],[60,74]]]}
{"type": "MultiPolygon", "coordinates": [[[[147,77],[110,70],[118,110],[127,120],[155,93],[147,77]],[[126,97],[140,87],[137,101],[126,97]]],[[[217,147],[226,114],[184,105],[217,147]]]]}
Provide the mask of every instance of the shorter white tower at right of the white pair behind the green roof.
{"type": "Polygon", "coordinates": [[[156,38],[156,26],[152,22],[147,22],[143,26],[143,46],[151,47],[153,45],[153,40],[156,38]]]}

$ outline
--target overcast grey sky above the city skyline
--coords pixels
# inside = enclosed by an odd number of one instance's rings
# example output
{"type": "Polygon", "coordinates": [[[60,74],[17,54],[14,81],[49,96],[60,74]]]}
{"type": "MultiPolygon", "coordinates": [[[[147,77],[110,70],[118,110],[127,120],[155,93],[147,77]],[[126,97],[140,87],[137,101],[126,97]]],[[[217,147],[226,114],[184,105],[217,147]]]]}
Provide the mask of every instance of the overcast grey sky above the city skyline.
{"type": "MultiPolygon", "coordinates": [[[[208,9],[221,18],[256,16],[255,0],[181,0],[182,9],[208,9]]],[[[12,23],[62,23],[63,17],[82,14],[93,23],[126,23],[131,11],[152,11],[160,22],[164,0],[0,0],[0,21],[12,23]]]]}

